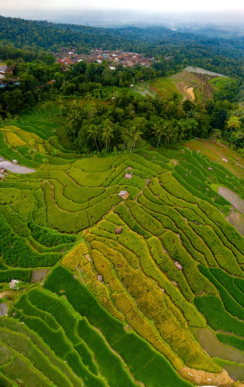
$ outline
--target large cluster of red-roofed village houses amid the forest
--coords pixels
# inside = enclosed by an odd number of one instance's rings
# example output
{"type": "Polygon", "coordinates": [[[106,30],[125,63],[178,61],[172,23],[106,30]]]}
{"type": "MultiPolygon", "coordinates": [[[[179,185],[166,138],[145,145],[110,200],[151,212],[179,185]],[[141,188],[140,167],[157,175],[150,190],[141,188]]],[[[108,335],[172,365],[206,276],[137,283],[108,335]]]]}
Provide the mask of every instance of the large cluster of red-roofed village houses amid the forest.
{"type": "MultiPolygon", "coordinates": [[[[107,51],[102,50],[102,48],[91,50],[89,54],[78,54],[77,49],[73,48],[72,51],[69,52],[65,50],[61,53],[57,52],[54,56],[56,57],[57,62],[66,65],[75,64],[80,61],[85,61],[87,63],[102,63],[102,61],[109,61],[111,64],[122,63],[124,67],[133,67],[137,64],[148,67],[155,62],[154,58],[145,58],[142,54],[121,52],[119,50],[107,51]]],[[[110,68],[115,70],[116,67],[111,66],[110,68]]]]}

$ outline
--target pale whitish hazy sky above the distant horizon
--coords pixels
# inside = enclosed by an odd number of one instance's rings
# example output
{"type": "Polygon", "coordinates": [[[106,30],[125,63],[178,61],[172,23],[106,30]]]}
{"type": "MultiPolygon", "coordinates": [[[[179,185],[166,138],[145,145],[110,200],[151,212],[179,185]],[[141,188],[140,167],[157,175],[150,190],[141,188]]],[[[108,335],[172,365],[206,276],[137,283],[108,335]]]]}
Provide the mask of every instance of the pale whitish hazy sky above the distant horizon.
{"type": "Polygon", "coordinates": [[[242,0],[0,0],[0,15],[12,16],[20,10],[87,10],[87,9],[133,9],[151,11],[224,11],[243,9],[242,0]]]}

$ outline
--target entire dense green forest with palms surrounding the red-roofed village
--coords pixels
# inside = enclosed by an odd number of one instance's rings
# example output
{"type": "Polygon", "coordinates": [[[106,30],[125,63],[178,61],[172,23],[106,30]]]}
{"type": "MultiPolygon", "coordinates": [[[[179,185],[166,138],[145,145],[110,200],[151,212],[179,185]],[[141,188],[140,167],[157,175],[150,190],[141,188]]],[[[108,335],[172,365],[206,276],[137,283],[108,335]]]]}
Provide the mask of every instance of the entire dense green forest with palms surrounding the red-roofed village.
{"type": "Polygon", "coordinates": [[[13,75],[0,88],[1,120],[26,107],[59,106],[67,118],[70,139],[82,153],[114,147],[135,148],[136,142],[182,142],[206,138],[214,130],[242,147],[242,38],[209,39],[163,27],[97,28],[47,21],[0,17],[0,59],[12,65],[13,75]],[[109,62],[55,62],[54,52],[77,47],[121,49],[154,56],[150,66],[125,67],[109,62]],[[166,55],[172,56],[165,61],[166,55]],[[129,85],[176,73],[187,64],[234,77],[204,104],[132,93],[129,85]]]}

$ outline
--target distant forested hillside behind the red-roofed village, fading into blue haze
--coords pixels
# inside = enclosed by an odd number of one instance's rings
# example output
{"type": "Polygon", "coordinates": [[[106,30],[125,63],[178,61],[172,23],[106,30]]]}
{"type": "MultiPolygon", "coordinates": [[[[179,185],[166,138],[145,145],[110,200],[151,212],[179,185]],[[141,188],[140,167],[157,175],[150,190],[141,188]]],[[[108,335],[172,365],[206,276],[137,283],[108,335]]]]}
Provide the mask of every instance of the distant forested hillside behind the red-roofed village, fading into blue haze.
{"type": "Polygon", "coordinates": [[[242,36],[209,38],[160,25],[102,28],[2,16],[0,27],[1,60],[40,60],[43,50],[53,54],[76,48],[78,53],[88,54],[102,47],[103,50],[154,57],[157,64],[153,69],[157,77],[181,71],[186,65],[201,66],[230,77],[243,77],[242,36]],[[165,61],[167,57],[172,57],[172,60],[165,61]]]}

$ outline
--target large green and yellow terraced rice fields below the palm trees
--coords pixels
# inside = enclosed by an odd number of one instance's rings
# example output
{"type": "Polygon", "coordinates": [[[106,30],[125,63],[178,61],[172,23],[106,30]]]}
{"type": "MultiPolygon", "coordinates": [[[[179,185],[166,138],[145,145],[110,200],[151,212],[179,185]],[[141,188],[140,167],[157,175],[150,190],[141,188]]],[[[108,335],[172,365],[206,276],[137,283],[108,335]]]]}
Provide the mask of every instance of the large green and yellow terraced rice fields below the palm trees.
{"type": "Polygon", "coordinates": [[[2,383],[233,385],[222,365],[244,348],[244,243],[215,185],[243,198],[241,178],[178,145],[82,158],[62,134],[40,110],[0,128],[0,156],[36,169],[0,181],[2,383]],[[193,335],[206,326],[224,359],[193,335]]]}

